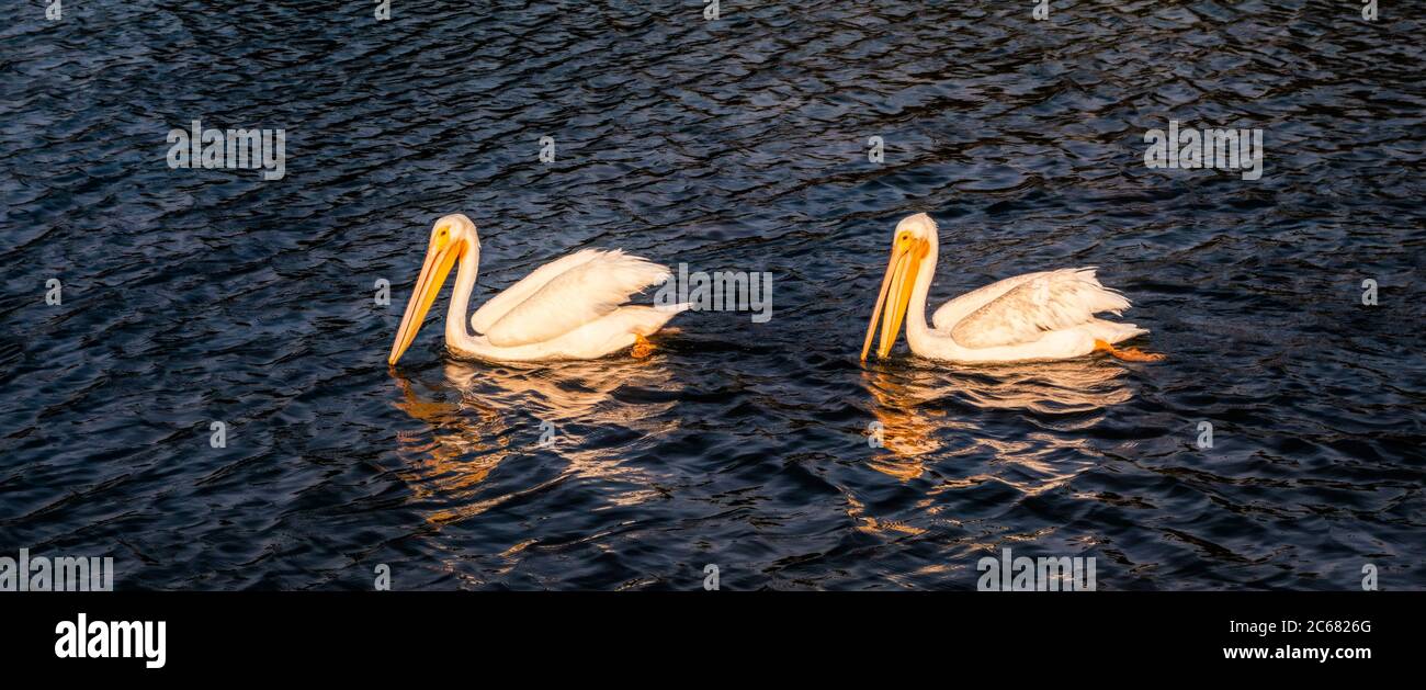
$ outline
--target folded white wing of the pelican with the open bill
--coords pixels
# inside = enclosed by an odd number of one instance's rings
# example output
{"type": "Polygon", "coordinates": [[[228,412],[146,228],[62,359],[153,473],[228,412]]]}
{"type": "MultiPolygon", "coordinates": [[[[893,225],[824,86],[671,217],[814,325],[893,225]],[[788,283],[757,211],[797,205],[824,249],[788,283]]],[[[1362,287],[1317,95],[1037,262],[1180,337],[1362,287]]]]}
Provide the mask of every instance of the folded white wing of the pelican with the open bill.
{"type": "Polygon", "coordinates": [[[981,305],[951,328],[951,336],[965,348],[1017,345],[1128,308],[1124,295],[1099,285],[1092,268],[1065,268],[1035,274],[981,305]]]}

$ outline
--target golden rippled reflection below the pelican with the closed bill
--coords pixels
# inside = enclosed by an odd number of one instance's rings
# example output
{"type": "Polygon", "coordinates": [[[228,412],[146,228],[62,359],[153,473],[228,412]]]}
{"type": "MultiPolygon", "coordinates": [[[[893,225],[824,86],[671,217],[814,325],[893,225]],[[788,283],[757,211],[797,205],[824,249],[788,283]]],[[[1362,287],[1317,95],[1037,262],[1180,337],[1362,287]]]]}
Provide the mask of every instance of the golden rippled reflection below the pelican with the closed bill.
{"type": "MultiPolygon", "coordinates": [[[[408,458],[399,473],[418,499],[439,505],[429,515],[434,523],[462,520],[568,479],[639,486],[605,496],[617,505],[639,503],[656,495],[647,470],[623,460],[637,452],[640,439],[676,425],[660,421],[660,413],[676,403],[676,391],[670,392],[670,371],[657,359],[496,368],[448,361],[445,378],[456,392],[449,401],[442,399],[439,391],[424,398],[395,369],[391,374],[405,398],[396,408],[429,426],[429,435],[398,436],[402,456],[408,458]],[[583,443],[585,428],[633,431],[636,439],[617,448],[583,443]],[[486,486],[501,463],[538,463],[538,453],[558,455],[566,463],[563,472],[515,490],[508,485],[486,486]]],[[[512,478],[525,476],[526,469],[516,469],[512,478]]]]}

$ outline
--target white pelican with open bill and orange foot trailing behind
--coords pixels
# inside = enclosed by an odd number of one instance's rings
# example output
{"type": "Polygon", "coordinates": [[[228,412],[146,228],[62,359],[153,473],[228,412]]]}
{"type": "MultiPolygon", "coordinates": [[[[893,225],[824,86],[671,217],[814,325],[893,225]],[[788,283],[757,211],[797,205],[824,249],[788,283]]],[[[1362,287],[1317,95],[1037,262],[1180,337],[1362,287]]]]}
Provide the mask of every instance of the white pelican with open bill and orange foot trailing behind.
{"type": "Polygon", "coordinates": [[[1114,346],[1148,331],[1094,318],[1105,311],[1121,314],[1129,308],[1129,301],[1099,285],[1092,268],[1061,268],[992,282],[941,305],[928,328],[925,295],[935,274],[937,245],[937,227],[930,215],[915,214],[897,224],[891,262],[861,345],[863,361],[871,349],[883,304],[887,314],[881,319],[877,348],[883,359],[896,345],[907,309],[911,318],[906,324],[906,339],[911,352],[930,359],[1021,362],[1070,359],[1091,352],[1108,352],[1134,362],[1164,359],[1164,355],[1114,346]]]}

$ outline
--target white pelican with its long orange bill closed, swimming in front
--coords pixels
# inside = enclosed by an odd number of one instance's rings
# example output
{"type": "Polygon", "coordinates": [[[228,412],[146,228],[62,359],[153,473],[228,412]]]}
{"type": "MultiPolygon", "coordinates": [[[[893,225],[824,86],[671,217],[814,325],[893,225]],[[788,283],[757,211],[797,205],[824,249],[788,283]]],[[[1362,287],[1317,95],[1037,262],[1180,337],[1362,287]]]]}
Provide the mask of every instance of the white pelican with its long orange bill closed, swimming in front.
{"type": "Polygon", "coordinates": [[[485,302],[471,316],[475,332],[468,332],[465,312],[475,289],[481,238],[469,218],[452,214],[438,220],[431,230],[426,259],[406,314],[401,316],[388,364],[396,364],[411,346],[456,262],[461,268],[446,312],[446,348],[465,359],[595,359],[629,346],[635,356],[647,356],[653,346],[645,336],[687,308],[682,304],[670,308],[625,304],[629,295],[663,282],[669,269],[617,249],[580,249],[536,268],[485,302]]]}

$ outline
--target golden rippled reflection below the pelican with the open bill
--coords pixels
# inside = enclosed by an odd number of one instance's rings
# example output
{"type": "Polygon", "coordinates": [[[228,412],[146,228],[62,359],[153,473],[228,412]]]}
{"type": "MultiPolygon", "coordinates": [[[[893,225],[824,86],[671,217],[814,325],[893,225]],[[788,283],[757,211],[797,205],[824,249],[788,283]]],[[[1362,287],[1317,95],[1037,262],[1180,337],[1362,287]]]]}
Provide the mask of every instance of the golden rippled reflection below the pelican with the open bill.
{"type": "MultiPolygon", "coordinates": [[[[871,392],[871,408],[880,422],[881,446],[871,468],[901,480],[918,479],[927,460],[985,455],[994,462],[1007,462],[1028,472],[1005,480],[1027,493],[1038,493],[1061,485],[1078,473],[1065,473],[1064,466],[1045,458],[1064,449],[1092,450],[1079,438],[1067,438],[1064,431],[1084,429],[1098,423],[1102,409],[1128,401],[1132,393],[1124,383],[1124,369],[1112,361],[1071,359],[1058,362],[1024,362],[1001,366],[960,368],[896,366],[873,368],[863,374],[871,392]],[[985,416],[963,418],[957,406],[977,411],[1022,411],[1045,432],[1005,441],[985,432],[985,416]]],[[[985,480],[970,476],[948,480],[945,488],[960,488],[985,480]]],[[[941,489],[937,489],[941,490],[941,489]]],[[[934,492],[933,492],[934,493],[934,492]]]]}

